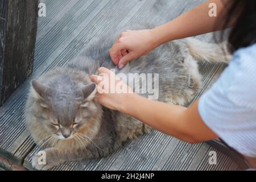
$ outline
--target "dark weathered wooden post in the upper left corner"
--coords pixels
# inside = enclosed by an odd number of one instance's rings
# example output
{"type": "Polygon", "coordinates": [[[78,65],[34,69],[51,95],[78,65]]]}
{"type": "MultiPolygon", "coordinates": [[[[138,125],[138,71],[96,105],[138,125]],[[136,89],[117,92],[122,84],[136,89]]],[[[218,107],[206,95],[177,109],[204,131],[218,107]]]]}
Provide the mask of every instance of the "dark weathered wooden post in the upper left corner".
{"type": "Polygon", "coordinates": [[[0,0],[0,105],[32,73],[38,0],[0,0]]]}

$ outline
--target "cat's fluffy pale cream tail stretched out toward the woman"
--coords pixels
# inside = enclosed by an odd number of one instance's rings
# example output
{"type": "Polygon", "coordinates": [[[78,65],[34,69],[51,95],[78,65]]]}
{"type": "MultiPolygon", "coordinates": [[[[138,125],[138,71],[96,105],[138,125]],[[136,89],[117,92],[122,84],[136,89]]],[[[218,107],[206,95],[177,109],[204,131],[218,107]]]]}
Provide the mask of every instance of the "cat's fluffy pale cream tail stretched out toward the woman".
{"type": "Polygon", "coordinates": [[[194,38],[184,39],[189,51],[196,60],[213,63],[229,63],[232,59],[228,51],[228,44],[210,44],[194,38]]]}

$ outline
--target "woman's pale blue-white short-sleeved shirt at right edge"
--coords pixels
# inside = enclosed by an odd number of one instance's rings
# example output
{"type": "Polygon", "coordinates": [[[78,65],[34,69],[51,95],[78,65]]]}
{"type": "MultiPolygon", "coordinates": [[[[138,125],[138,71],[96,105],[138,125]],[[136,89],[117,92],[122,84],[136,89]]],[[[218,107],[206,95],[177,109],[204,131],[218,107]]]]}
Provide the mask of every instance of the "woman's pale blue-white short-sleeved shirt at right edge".
{"type": "Polygon", "coordinates": [[[230,147],[256,158],[256,44],[238,49],[199,101],[205,124],[230,147]]]}

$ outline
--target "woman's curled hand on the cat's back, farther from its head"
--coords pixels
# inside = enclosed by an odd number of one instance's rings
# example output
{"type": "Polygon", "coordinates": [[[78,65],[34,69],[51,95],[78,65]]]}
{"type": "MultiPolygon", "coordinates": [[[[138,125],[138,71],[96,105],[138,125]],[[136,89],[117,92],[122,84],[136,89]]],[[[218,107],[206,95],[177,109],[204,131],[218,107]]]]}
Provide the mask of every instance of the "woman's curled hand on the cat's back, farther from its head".
{"type": "Polygon", "coordinates": [[[122,69],[129,61],[147,55],[157,46],[154,30],[127,30],[121,33],[109,53],[114,64],[122,69]]]}

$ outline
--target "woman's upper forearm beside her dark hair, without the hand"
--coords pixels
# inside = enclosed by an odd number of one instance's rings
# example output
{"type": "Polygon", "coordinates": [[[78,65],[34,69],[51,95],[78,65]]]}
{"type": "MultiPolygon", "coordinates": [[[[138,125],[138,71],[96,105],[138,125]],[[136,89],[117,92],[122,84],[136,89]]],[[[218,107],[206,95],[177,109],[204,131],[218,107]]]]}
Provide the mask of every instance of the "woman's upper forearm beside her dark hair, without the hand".
{"type": "MultiPolygon", "coordinates": [[[[171,22],[154,28],[155,32],[155,47],[171,40],[183,39],[191,36],[206,34],[221,30],[223,17],[222,13],[226,10],[224,2],[230,0],[210,0],[179,16],[171,22]],[[209,16],[209,4],[215,3],[217,5],[217,16],[209,16]],[[219,26],[217,26],[219,25],[219,26]]],[[[231,25],[230,25],[231,26],[231,25]]]]}

